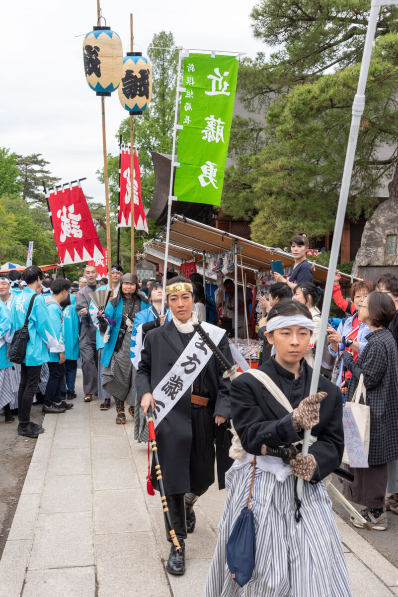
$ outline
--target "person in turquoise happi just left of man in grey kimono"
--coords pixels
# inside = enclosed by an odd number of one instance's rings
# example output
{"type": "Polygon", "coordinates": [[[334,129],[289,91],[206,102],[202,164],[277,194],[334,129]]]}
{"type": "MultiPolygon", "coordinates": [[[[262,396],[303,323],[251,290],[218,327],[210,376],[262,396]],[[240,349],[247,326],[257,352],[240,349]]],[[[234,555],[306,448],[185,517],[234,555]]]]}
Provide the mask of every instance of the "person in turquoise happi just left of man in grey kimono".
{"type": "Polygon", "coordinates": [[[64,341],[65,341],[65,378],[62,390],[66,393],[67,400],[76,398],[74,383],[77,373],[77,359],[79,353],[80,321],[76,313],[76,296],[69,291],[69,296],[61,304],[64,315],[64,341]]]}

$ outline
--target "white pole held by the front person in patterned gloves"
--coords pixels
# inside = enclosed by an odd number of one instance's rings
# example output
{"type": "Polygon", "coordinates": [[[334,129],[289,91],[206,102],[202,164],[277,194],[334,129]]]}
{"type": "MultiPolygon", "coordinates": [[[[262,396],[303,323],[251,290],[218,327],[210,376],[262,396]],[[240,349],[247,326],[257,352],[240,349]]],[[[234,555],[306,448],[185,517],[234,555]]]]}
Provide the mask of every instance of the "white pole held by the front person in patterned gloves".
{"type": "MultiPolygon", "coordinates": [[[[383,4],[387,3],[388,2],[383,2],[383,4]]],[[[315,354],[315,362],[313,366],[312,380],[310,386],[310,395],[313,395],[318,391],[319,375],[321,374],[323,339],[326,337],[328,316],[332,300],[334,274],[337,268],[341,235],[343,234],[344,218],[346,216],[347,201],[350,191],[350,183],[355,159],[356,143],[358,139],[361,116],[365,107],[366,80],[368,79],[369,64],[371,61],[372,46],[375,38],[380,4],[380,0],[372,0],[371,12],[369,14],[368,29],[366,30],[365,46],[363,47],[362,63],[360,65],[357,93],[352,106],[350,137],[346,153],[346,162],[344,164],[343,179],[341,180],[340,198],[338,199],[337,215],[333,233],[333,242],[330,252],[328,277],[325,287],[324,304],[322,306],[321,322],[319,324],[319,349],[316,351],[315,354]]],[[[310,429],[306,429],[304,431],[303,449],[301,450],[303,456],[307,456],[308,454],[310,433],[310,429]]],[[[303,496],[303,479],[297,480],[297,496],[300,500],[303,496]]]]}

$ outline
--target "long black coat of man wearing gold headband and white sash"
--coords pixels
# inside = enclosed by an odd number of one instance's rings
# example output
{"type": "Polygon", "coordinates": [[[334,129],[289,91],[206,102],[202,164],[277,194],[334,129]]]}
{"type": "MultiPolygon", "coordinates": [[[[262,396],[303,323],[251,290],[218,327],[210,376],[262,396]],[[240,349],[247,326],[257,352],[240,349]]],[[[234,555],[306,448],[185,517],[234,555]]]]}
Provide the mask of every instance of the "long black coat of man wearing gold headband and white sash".
{"type": "MultiPolygon", "coordinates": [[[[182,334],[173,321],[150,330],[145,335],[141,361],[135,378],[138,398],[153,392],[175,362],[184,352],[194,332],[182,334]]],[[[226,336],[219,349],[232,362],[226,336]]],[[[232,464],[228,456],[230,446],[226,423],[216,426],[214,415],[228,421],[231,417],[229,379],[223,378],[225,370],[212,355],[193,384],[156,427],[158,457],[166,494],[203,494],[214,482],[214,442],[216,444],[217,476],[223,489],[226,470],[232,464]],[[206,407],[191,404],[191,393],[209,398],[206,407]]],[[[152,483],[157,481],[152,463],[152,483]]]]}

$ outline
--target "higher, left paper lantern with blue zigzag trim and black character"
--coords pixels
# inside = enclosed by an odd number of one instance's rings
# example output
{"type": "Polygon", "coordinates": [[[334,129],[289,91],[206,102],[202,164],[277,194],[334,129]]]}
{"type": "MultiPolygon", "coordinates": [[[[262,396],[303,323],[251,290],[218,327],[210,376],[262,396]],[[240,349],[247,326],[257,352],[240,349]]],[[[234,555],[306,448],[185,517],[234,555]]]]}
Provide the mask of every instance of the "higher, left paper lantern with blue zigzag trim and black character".
{"type": "Polygon", "coordinates": [[[86,81],[97,96],[110,96],[123,72],[122,40],[110,27],[94,27],[83,39],[86,81]]]}

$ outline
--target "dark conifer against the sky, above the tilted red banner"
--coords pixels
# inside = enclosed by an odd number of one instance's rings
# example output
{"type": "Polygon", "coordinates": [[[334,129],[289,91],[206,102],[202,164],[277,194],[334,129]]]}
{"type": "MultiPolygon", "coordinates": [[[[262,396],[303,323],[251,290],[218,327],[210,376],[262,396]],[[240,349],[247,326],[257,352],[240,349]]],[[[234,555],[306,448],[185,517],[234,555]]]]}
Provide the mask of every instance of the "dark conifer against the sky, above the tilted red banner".
{"type": "Polygon", "coordinates": [[[51,176],[51,172],[46,169],[49,162],[42,158],[41,153],[32,153],[31,155],[17,155],[17,168],[22,181],[22,198],[24,201],[34,201],[45,203],[43,192],[43,181],[46,187],[54,186],[60,179],[51,176]]]}

